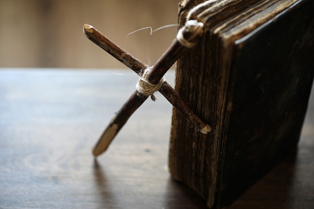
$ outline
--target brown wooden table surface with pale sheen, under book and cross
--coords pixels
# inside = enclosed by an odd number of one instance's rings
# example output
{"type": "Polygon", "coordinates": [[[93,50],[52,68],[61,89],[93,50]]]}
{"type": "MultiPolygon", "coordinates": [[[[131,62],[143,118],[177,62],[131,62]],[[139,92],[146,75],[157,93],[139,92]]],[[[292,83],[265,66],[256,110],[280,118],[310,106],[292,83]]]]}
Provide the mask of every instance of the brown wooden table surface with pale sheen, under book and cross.
{"type": "MultiPolygon", "coordinates": [[[[0,208],[206,208],[169,174],[172,106],[159,93],[93,158],[137,79],[129,70],[0,69],[0,208]]],[[[229,208],[314,208],[313,93],[297,152],[229,208]]]]}

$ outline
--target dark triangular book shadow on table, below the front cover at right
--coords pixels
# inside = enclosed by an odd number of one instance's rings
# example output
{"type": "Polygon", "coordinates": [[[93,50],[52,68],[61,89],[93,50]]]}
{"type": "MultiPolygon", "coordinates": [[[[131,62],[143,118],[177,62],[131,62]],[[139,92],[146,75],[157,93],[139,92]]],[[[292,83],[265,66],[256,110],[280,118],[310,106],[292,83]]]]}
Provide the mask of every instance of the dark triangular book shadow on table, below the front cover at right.
{"type": "Polygon", "coordinates": [[[296,199],[291,199],[291,197],[297,196],[295,192],[297,192],[296,166],[298,158],[298,151],[291,153],[228,208],[300,208],[297,205],[294,207],[296,199]]]}

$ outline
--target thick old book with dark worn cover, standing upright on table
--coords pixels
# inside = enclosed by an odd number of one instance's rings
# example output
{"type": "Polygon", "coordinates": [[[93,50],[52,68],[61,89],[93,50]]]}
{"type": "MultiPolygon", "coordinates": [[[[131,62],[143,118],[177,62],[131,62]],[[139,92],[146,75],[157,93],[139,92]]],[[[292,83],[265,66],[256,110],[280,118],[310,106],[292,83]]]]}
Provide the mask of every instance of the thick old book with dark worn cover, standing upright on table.
{"type": "Polygon", "coordinates": [[[206,25],[175,89],[213,128],[173,111],[169,167],[210,208],[230,204],[297,146],[314,74],[314,1],[183,1],[206,25]]]}

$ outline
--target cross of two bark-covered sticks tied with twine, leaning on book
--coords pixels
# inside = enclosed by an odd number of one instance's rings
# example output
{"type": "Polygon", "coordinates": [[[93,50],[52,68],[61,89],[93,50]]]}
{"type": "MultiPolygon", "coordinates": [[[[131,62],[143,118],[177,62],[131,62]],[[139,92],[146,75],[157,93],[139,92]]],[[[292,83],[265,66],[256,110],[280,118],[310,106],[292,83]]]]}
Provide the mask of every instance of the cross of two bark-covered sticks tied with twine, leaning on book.
{"type": "Polygon", "coordinates": [[[163,76],[170,67],[189,49],[194,47],[203,35],[203,23],[196,20],[188,21],[183,26],[172,45],[152,67],[135,59],[132,55],[110,41],[94,27],[85,24],[84,34],[96,45],[104,49],[118,61],[137,73],[141,78],[136,85],[136,90],[124,103],[121,109],[112,118],[111,122],[101,135],[93,148],[93,155],[97,157],[103,153],[118,131],[126,123],[131,114],[149,97],[154,100],[153,93],[161,92],[166,99],[175,106],[188,119],[192,125],[204,134],[211,131],[211,127],[204,122],[185,100],[176,92],[163,76]]]}

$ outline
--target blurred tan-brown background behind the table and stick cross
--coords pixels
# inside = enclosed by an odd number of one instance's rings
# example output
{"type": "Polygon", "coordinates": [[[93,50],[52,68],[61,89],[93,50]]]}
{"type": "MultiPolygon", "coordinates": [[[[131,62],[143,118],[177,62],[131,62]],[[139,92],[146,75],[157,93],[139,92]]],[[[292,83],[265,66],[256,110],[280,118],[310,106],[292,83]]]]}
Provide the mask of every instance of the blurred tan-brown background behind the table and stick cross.
{"type": "MultiPolygon", "coordinates": [[[[180,0],[0,0],[0,67],[125,68],[83,34],[94,26],[124,48],[128,33],[178,22],[180,0]]],[[[125,50],[153,64],[177,27],[127,37],[125,50]]]]}

